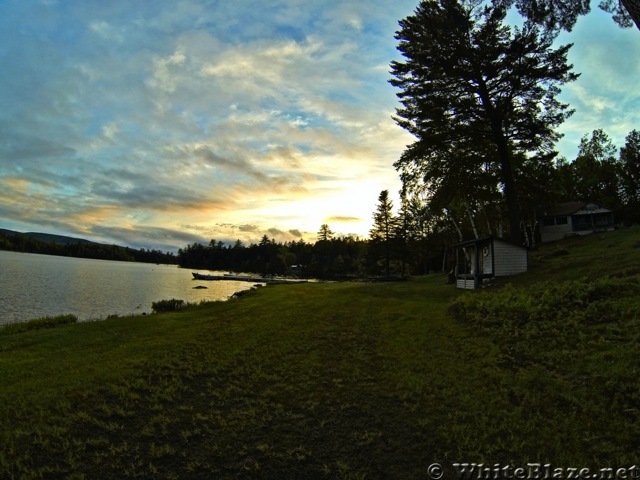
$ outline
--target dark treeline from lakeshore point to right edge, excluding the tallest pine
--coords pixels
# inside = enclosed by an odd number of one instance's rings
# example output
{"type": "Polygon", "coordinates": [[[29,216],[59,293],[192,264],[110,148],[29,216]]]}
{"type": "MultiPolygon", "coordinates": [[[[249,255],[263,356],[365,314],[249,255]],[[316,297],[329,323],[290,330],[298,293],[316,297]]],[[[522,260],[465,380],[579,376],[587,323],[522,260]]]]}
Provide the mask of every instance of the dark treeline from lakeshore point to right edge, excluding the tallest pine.
{"type": "MultiPolygon", "coordinates": [[[[528,247],[540,241],[539,220],[546,208],[558,203],[596,203],[612,210],[618,224],[640,223],[640,133],[636,130],[620,150],[599,129],[582,138],[571,162],[518,157],[516,164],[521,237],[528,247]]],[[[509,229],[501,190],[487,188],[480,194],[468,187],[446,196],[434,195],[442,191],[406,188],[397,212],[388,191],[381,192],[368,239],[334,238],[329,226],[322,225],[315,243],[277,243],[264,236],[246,247],[240,241],[225,245],[211,240],[208,245],[180,249],[178,263],[187,268],[313,278],[449,271],[452,245],[484,235],[503,237],[509,229]]]]}

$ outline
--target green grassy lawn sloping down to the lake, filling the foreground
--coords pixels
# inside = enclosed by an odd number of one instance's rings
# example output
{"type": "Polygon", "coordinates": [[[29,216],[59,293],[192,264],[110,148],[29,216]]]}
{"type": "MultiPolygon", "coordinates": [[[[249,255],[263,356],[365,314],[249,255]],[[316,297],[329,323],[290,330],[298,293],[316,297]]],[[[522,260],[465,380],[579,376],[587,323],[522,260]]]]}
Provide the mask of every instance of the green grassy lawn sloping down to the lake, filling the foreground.
{"type": "Polygon", "coordinates": [[[0,479],[630,466],[639,240],[629,229],[544,246],[530,273],[482,292],[439,275],[278,285],[2,335],[0,479]]]}

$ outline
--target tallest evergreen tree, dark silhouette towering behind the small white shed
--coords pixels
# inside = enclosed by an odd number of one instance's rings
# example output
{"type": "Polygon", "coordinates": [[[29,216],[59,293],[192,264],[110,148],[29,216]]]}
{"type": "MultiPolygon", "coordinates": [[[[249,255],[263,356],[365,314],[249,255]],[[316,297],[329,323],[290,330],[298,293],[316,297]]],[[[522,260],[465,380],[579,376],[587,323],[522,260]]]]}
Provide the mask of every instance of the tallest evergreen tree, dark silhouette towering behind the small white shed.
{"type": "Polygon", "coordinates": [[[406,60],[391,64],[401,90],[396,121],[417,140],[396,168],[449,196],[464,189],[475,199],[478,186],[500,186],[510,235],[520,240],[514,154],[552,151],[555,127],[572,113],[556,99],[559,86],[577,75],[566,63],[570,45],[552,49],[531,24],[512,32],[505,15],[496,6],[423,0],[400,21],[406,60]]]}

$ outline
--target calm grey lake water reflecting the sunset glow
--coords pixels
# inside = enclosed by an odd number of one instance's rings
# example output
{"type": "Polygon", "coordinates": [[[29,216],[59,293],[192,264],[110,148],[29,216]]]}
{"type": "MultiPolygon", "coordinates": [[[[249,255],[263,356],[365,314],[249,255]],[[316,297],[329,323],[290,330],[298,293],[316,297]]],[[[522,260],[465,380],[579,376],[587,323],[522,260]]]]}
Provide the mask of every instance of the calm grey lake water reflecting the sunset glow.
{"type": "Polygon", "coordinates": [[[151,313],[158,300],[225,300],[253,285],[195,281],[191,272],[175,265],[0,250],[0,324],[67,313],[80,320],[151,313]],[[198,285],[207,289],[193,288],[198,285]]]}

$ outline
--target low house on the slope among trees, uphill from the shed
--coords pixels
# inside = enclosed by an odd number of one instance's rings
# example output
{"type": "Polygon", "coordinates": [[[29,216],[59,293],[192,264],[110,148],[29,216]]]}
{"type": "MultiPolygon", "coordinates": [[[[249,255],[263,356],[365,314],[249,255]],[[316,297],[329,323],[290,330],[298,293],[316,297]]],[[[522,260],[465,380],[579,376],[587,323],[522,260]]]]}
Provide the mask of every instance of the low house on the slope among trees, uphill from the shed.
{"type": "Polygon", "coordinates": [[[542,212],[540,235],[552,242],[574,235],[613,230],[613,212],[587,202],[569,202],[547,207],[542,212]]]}

